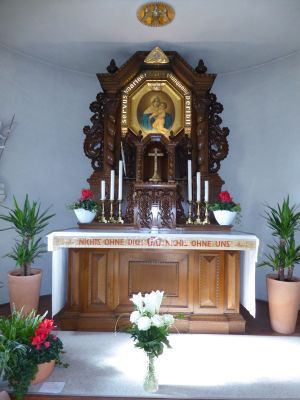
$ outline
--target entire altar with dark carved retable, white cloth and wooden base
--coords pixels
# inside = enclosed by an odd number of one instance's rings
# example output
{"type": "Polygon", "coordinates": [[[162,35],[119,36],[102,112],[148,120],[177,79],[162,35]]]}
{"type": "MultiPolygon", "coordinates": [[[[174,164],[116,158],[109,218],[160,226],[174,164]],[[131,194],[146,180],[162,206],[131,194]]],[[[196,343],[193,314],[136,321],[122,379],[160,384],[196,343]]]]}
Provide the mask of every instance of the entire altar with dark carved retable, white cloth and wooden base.
{"type": "Polygon", "coordinates": [[[93,172],[74,206],[91,219],[48,236],[60,327],[113,331],[128,324],[133,294],[162,290],[180,332],[244,332],[239,307],[255,315],[258,239],[215,213],[241,209],[222,192],[229,129],[211,91],[216,75],[155,47],[121,67],[111,60],[97,78],[83,128],[93,172]]]}

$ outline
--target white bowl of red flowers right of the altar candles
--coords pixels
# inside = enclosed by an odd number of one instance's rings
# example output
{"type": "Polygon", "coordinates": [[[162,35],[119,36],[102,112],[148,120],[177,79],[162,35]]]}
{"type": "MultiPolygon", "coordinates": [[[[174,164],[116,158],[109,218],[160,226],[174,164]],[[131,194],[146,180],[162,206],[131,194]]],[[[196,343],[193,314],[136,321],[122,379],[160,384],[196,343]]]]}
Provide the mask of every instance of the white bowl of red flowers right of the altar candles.
{"type": "Polygon", "coordinates": [[[241,206],[235,203],[227,191],[220,192],[218,201],[209,204],[209,210],[213,211],[219,225],[232,225],[241,206]]]}

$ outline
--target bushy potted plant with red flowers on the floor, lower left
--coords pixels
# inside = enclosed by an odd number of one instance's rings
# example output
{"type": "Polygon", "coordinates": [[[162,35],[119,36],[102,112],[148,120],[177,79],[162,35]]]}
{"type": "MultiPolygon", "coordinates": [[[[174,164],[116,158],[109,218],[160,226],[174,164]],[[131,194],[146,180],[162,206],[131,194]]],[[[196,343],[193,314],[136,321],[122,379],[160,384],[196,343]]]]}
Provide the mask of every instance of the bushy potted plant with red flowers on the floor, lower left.
{"type": "Polygon", "coordinates": [[[24,315],[13,310],[8,318],[0,318],[0,373],[13,389],[16,399],[22,399],[29,385],[46,379],[55,364],[62,364],[63,344],[54,335],[54,322],[37,315],[24,315]]]}

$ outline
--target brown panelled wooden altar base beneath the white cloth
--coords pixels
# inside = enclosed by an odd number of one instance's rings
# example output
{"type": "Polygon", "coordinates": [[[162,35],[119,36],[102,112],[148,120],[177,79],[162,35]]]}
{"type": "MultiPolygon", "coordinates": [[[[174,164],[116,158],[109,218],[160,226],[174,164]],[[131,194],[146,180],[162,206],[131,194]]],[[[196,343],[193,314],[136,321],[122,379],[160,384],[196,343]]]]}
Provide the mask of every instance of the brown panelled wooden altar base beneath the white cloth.
{"type": "Polygon", "coordinates": [[[63,330],[114,331],[129,324],[132,294],[164,290],[161,312],[179,332],[244,333],[240,252],[70,248],[63,330]]]}

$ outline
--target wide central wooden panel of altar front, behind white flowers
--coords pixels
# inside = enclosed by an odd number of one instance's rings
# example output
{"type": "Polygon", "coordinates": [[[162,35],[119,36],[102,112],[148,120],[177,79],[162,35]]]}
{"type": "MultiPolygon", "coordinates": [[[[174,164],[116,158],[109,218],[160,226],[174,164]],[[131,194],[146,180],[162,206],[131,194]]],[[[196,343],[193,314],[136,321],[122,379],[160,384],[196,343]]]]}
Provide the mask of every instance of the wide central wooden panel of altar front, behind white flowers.
{"type": "Polygon", "coordinates": [[[192,280],[187,252],[120,251],[119,302],[116,312],[129,312],[133,293],[164,290],[164,311],[192,311],[192,280]]]}

